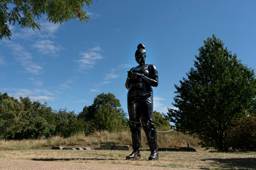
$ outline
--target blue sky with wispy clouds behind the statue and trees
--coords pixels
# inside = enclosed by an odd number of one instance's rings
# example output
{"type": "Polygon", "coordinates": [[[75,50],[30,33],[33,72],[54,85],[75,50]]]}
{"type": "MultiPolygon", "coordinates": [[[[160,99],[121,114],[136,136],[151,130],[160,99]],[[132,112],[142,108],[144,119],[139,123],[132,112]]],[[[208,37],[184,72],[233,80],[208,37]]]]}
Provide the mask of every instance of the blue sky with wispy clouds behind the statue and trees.
{"type": "Polygon", "coordinates": [[[167,113],[174,84],[186,77],[212,34],[256,68],[255,7],[255,0],[93,0],[85,7],[88,23],[53,25],[42,16],[41,31],[11,25],[11,40],[0,40],[0,93],[75,113],[97,94],[113,93],[127,113],[127,71],[137,65],[134,55],[142,43],[146,63],[159,72],[154,110],[167,113]]]}

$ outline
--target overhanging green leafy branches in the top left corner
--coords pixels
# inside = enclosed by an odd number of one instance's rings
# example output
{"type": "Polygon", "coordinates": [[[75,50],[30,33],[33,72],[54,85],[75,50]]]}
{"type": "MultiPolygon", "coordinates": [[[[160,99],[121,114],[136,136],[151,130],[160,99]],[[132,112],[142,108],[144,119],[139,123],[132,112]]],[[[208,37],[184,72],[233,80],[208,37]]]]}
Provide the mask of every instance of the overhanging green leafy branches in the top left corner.
{"type": "Polygon", "coordinates": [[[90,19],[83,11],[84,3],[90,7],[92,0],[1,0],[0,2],[0,39],[11,37],[10,24],[20,25],[21,28],[35,27],[40,30],[35,17],[39,19],[42,14],[47,15],[47,20],[54,24],[79,18],[79,21],[88,22],[90,19]],[[13,4],[12,9],[8,5],[13,4]],[[10,11],[10,12],[8,12],[10,11]]]}

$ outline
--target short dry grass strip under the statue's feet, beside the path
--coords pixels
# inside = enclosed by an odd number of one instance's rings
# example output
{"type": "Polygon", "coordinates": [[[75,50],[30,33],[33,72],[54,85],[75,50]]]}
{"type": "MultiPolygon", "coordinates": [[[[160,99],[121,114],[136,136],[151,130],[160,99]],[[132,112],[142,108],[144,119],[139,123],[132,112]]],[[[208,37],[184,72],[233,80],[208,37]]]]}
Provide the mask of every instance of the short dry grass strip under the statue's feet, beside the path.
{"type": "Polygon", "coordinates": [[[108,163],[192,169],[255,170],[256,153],[159,152],[158,161],[149,161],[150,152],[142,158],[125,160],[131,151],[117,150],[12,150],[0,151],[0,158],[80,163],[108,163]]]}

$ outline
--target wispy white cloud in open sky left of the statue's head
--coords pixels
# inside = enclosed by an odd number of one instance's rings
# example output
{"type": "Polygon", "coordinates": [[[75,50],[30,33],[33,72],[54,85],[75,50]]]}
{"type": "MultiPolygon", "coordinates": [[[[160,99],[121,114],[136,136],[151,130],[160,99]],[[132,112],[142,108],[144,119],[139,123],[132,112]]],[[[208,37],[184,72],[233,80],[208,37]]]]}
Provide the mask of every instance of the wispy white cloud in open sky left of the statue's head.
{"type": "Polygon", "coordinates": [[[93,68],[94,65],[96,64],[96,60],[103,58],[101,54],[98,53],[98,51],[100,50],[101,50],[100,47],[96,46],[92,49],[89,49],[87,52],[82,52],[81,59],[76,61],[78,63],[78,68],[79,68],[77,71],[83,71],[85,69],[93,68]]]}

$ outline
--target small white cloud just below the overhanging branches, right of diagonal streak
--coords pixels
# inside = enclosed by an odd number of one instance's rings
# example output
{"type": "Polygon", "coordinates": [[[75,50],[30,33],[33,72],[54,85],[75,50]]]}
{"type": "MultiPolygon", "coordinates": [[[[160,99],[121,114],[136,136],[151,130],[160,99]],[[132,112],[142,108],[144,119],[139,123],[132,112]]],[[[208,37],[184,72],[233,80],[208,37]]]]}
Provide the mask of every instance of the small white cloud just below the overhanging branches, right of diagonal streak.
{"type": "Polygon", "coordinates": [[[55,46],[54,42],[50,40],[36,41],[34,44],[32,44],[32,47],[36,48],[42,54],[51,56],[56,56],[55,53],[62,49],[60,46],[55,46]]]}

